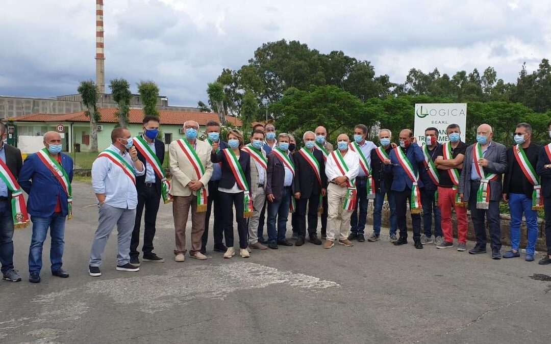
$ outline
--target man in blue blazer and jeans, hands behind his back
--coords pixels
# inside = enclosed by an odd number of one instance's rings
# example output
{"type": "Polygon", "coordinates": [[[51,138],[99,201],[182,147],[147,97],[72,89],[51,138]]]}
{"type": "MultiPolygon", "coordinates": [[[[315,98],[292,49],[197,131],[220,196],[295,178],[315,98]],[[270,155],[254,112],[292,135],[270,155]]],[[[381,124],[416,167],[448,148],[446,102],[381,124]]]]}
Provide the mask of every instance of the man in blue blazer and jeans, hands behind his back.
{"type": "Polygon", "coordinates": [[[71,182],[73,159],[61,152],[61,135],[44,134],[44,146],[25,159],[18,182],[29,194],[27,210],[33,221],[33,237],[29,252],[29,282],[40,282],[42,246],[50,228],[50,261],[52,275],[69,277],[62,269],[65,219],[72,216],[71,182]]]}

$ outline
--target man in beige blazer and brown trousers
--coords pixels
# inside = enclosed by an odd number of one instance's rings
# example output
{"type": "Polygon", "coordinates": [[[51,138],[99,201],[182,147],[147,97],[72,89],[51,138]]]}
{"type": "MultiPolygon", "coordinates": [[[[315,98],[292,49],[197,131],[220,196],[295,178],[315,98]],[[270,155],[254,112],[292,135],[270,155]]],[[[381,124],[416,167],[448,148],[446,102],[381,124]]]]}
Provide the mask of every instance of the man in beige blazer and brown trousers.
{"type": "Polygon", "coordinates": [[[190,256],[196,259],[207,259],[207,256],[199,252],[201,250],[201,237],[205,230],[206,204],[197,205],[197,196],[200,195],[205,186],[208,185],[212,176],[212,161],[210,153],[212,146],[207,142],[197,140],[199,124],[195,121],[187,121],[183,124],[186,133],[185,139],[172,141],[169,146],[170,172],[172,180],[170,183],[170,194],[174,197],[172,202],[172,215],[174,216],[174,229],[176,232],[176,261],[184,261],[186,254],[186,223],[191,208],[191,249],[190,256]],[[187,145],[188,143],[189,145],[187,145]],[[190,151],[189,149],[192,149],[190,151]],[[193,154],[195,152],[195,154],[193,154]],[[199,178],[196,160],[201,162],[204,172],[199,178]],[[199,208],[199,209],[198,209],[199,208]],[[202,209],[204,208],[204,209],[202,209]]]}

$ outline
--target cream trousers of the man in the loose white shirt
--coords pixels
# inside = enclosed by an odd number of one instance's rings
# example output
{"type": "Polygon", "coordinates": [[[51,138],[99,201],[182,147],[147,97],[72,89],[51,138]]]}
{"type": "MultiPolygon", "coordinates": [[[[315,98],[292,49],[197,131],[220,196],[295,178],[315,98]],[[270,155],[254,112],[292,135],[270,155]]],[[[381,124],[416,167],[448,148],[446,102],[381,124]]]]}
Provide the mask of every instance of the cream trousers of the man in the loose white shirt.
{"type": "Polygon", "coordinates": [[[327,240],[336,241],[348,238],[350,234],[350,215],[352,211],[345,211],[343,203],[346,199],[348,188],[341,188],[336,184],[327,185],[327,240]],[[341,215],[339,222],[337,217],[341,215]]]}

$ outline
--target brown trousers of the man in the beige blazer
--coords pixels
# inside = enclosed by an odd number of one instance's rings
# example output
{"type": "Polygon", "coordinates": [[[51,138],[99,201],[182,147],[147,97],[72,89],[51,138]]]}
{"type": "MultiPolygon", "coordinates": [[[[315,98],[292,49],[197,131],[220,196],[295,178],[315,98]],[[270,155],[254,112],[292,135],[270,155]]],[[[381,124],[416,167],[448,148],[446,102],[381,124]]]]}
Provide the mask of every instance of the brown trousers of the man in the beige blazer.
{"type": "Polygon", "coordinates": [[[186,224],[191,207],[191,249],[190,254],[201,250],[201,237],[205,229],[206,212],[197,212],[197,196],[174,196],[172,215],[176,234],[174,254],[186,254],[186,224]]]}

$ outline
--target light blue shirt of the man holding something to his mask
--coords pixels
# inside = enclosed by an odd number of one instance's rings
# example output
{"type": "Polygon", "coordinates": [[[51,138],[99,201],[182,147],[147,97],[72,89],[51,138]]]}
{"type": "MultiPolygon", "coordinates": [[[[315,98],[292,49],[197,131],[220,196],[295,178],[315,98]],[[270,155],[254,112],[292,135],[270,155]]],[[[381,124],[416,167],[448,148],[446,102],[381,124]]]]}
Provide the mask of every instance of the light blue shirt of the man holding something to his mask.
{"type": "MultiPolygon", "coordinates": [[[[137,171],[128,152],[122,153],[114,145],[110,145],[109,149],[126,160],[128,165],[132,166],[136,176],[144,175],[145,168],[141,172],[137,171]]],[[[105,204],[112,207],[136,209],[138,205],[136,185],[132,183],[120,166],[107,157],[98,157],[92,164],[92,188],[96,194],[105,194],[105,204]]]]}

